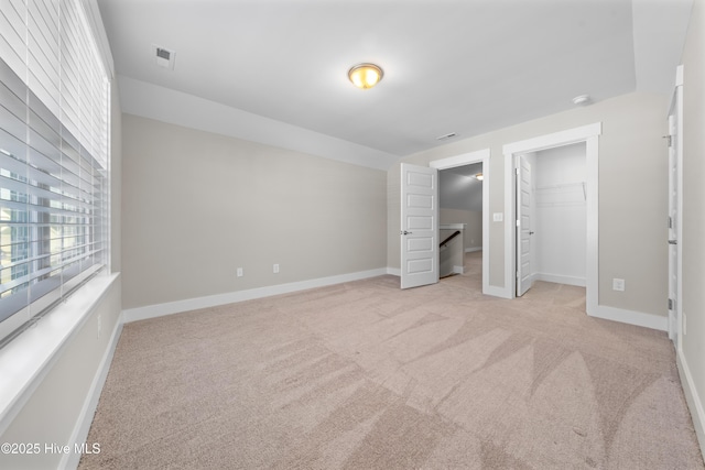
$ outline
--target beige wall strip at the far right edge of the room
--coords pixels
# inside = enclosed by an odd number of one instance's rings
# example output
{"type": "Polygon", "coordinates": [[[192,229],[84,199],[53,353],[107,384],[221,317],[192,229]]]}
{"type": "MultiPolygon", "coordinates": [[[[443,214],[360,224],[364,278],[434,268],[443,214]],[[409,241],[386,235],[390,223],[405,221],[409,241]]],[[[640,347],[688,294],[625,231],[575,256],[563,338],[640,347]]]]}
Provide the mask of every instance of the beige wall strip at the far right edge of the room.
{"type": "Polygon", "coordinates": [[[683,53],[682,357],[692,380],[691,413],[705,449],[705,4],[695,0],[683,53]]]}

